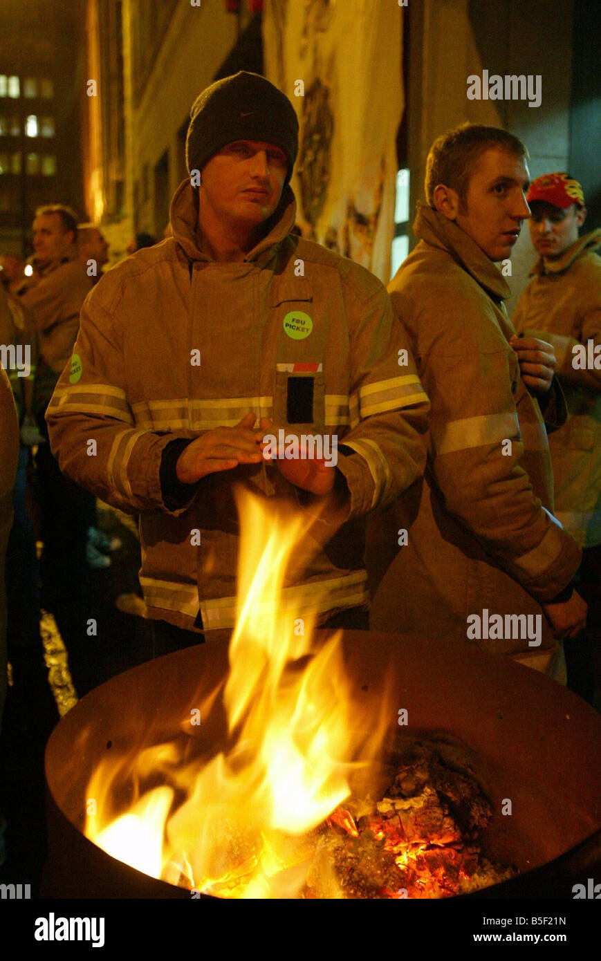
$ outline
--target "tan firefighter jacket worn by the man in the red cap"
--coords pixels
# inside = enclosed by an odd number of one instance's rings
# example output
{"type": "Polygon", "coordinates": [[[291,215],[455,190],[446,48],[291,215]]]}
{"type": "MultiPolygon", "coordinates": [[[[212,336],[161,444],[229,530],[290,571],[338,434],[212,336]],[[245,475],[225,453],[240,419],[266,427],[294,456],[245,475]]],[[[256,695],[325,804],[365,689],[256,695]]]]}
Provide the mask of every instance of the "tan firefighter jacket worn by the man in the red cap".
{"type": "Polygon", "coordinates": [[[601,229],[539,259],[513,311],[517,333],[555,347],[569,418],[549,436],[555,507],[581,547],[601,544],[601,229]]]}

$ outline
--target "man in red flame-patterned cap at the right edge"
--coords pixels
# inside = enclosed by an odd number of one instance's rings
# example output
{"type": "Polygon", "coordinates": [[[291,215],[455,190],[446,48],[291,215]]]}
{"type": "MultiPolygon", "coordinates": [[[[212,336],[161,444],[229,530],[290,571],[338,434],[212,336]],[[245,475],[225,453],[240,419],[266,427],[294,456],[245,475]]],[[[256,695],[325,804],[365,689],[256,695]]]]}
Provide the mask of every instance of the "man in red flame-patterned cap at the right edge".
{"type": "Polygon", "coordinates": [[[528,190],[530,236],[539,259],[513,312],[518,334],[553,344],[569,416],[549,436],[556,514],[583,550],[577,581],[588,628],[565,643],[568,684],[593,694],[592,638],[601,591],[601,230],[579,237],[587,209],[582,186],[543,174],[528,190]]]}

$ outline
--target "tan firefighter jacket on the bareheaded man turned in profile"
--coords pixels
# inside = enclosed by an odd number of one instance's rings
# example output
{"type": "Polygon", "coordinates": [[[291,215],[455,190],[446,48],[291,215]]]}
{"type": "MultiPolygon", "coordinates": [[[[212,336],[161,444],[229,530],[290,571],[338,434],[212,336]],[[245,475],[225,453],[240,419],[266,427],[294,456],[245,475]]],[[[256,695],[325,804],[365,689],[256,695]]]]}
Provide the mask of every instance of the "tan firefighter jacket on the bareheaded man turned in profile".
{"type": "Polygon", "coordinates": [[[442,214],[421,208],[414,230],[420,242],[388,290],[432,403],[428,464],[422,485],[369,521],[372,626],[536,653],[526,636],[470,638],[466,619],[540,615],[550,661],[540,602],[573,577],[580,551],[552,514],[544,425],[509,345],[509,287],[442,214]]]}

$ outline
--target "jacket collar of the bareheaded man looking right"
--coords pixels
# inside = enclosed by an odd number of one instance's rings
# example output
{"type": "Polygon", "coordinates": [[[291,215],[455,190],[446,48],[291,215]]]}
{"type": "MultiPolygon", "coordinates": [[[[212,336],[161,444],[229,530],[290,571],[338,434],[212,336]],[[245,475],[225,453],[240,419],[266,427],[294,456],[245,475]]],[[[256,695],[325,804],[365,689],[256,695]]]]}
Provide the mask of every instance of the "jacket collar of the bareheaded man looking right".
{"type": "Polygon", "coordinates": [[[413,233],[420,240],[447,251],[496,300],[505,300],[511,295],[509,284],[475,240],[438,210],[418,203],[413,233]]]}

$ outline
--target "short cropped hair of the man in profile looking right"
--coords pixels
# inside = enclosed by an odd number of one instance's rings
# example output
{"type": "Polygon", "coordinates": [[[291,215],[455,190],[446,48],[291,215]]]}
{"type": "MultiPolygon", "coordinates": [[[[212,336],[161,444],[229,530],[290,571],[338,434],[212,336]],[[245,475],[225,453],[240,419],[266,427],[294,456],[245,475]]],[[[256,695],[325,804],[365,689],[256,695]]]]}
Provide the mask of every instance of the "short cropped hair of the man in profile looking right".
{"type": "Polygon", "coordinates": [[[434,191],[438,184],[444,184],[457,191],[460,204],[465,209],[469,181],[478,160],[491,147],[528,160],[528,151],[522,141],[500,127],[463,123],[438,136],[426,160],[424,189],[428,206],[435,209],[434,191]]]}

